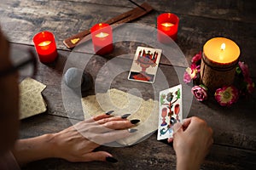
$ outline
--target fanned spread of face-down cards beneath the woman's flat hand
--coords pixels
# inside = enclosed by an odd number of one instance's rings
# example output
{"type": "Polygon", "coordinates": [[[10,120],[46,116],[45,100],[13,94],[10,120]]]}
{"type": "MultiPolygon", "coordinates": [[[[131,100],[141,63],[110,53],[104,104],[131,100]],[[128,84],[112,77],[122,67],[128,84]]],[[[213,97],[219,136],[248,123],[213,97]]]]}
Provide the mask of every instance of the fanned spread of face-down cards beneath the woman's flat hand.
{"type": "Polygon", "coordinates": [[[115,88],[109,89],[105,94],[90,95],[82,99],[85,119],[113,110],[115,116],[130,113],[128,119],[141,121],[134,127],[137,128],[136,133],[117,141],[123,145],[135,144],[157,130],[158,105],[158,101],[153,99],[144,100],[115,88]]]}

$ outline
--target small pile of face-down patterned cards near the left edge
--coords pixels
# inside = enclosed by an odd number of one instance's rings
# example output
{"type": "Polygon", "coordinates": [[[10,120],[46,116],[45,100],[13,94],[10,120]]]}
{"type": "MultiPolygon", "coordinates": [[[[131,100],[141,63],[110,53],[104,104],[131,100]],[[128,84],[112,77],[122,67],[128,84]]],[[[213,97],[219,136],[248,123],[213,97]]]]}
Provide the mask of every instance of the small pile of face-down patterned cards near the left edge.
{"type": "Polygon", "coordinates": [[[19,85],[20,88],[20,119],[38,115],[47,110],[41,92],[46,86],[27,77],[19,85]]]}

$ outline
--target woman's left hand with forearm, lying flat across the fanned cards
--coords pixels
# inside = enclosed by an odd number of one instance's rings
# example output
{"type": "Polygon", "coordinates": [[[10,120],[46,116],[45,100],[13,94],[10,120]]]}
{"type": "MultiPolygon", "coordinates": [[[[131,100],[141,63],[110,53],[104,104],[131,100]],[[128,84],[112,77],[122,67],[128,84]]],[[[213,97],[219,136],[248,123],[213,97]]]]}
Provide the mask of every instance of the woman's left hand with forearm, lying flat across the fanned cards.
{"type": "Polygon", "coordinates": [[[59,133],[49,133],[32,139],[20,139],[12,150],[20,165],[49,157],[67,161],[111,161],[117,160],[106,151],[94,151],[101,144],[123,139],[135,132],[139,120],[127,120],[125,116],[102,114],[79,122],[59,133]]]}

